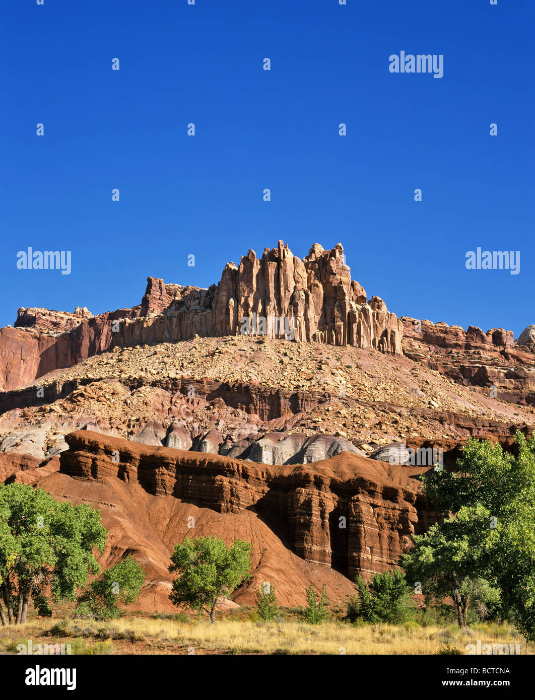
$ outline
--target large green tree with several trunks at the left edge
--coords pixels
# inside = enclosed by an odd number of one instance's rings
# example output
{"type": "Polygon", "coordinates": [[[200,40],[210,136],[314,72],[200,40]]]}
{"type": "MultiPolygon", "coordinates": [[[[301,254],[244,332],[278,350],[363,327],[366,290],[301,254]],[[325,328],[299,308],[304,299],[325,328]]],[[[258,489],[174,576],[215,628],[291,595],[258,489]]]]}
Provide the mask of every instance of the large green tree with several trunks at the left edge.
{"type": "Polygon", "coordinates": [[[29,598],[41,615],[53,601],[73,601],[100,566],[93,547],[104,551],[107,532],[100,511],[60,502],[26,484],[0,485],[0,619],[26,622],[29,598]],[[4,603],[6,610],[4,610],[4,603]]]}

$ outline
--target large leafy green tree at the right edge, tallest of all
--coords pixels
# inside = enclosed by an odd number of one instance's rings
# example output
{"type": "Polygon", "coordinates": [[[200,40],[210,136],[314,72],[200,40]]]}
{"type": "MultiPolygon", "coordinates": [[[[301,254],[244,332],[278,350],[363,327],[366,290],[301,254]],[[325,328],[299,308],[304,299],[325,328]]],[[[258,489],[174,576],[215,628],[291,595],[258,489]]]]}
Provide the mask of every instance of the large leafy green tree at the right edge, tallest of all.
{"type": "Polygon", "coordinates": [[[445,587],[466,626],[473,585],[499,589],[504,608],[535,640],[535,438],[517,433],[513,452],[470,439],[458,472],[423,478],[426,496],[444,515],[401,557],[408,580],[445,587]],[[434,582],[430,582],[434,579],[434,582]]]}

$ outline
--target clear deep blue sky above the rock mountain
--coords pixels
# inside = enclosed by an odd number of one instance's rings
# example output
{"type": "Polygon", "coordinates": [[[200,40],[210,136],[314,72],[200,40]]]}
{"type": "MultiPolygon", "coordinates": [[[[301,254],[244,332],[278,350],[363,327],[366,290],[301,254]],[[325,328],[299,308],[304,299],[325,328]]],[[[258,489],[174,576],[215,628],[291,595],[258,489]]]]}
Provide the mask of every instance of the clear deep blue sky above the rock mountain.
{"type": "Polygon", "coordinates": [[[399,316],[535,323],[532,0],[17,0],[2,19],[1,325],[132,306],[148,275],[207,287],[278,239],[340,241],[399,316]],[[401,50],[443,54],[443,78],[390,73],[401,50]],[[17,269],[29,246],[72,251],[71,274],[17,269]],[[478,246],[520,251],[520,274],[467,270],[478,246]]]}

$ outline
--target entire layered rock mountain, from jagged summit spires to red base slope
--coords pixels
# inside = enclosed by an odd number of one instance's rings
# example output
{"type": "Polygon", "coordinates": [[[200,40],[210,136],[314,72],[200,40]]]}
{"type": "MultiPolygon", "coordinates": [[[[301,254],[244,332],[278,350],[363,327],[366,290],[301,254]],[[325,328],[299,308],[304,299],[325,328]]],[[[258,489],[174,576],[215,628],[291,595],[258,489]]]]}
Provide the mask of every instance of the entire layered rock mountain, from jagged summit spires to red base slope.
{"type": "Polygon", "coordinates": [[[400,457],[438,448],[450,468],[468,437],[510,449],[532,432],[532,329],[515,343],[399,319],[351,281],[340,244],[301,260],[282,241],[208,289],[148,278],[130,309],[19,309],[0,329],[0,482],[101,508],[101,563],[146,565],[146,610],[172,609],[190,517],[253,542],[238,601],[265,580],[283,605],[311,582],[343,601],[436,518],[416,479],[430,463],[400,457]]]}

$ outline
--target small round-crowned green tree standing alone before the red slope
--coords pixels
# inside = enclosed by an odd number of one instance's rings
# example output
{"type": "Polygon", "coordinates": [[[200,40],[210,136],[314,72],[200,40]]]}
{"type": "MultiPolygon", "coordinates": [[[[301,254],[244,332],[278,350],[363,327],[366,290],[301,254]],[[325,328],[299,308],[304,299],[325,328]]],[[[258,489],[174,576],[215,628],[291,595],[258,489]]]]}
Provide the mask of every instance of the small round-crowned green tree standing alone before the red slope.
{"type": "Polygon", "coordinates": [[[174,605],[207,613],[216,622],[219,596],[230,596],[251,570],[251,543],[236,540],[225,546],[216,537],[184,538],[175,545],[169,566],[179,577],[169,596],[174,605]]]}

